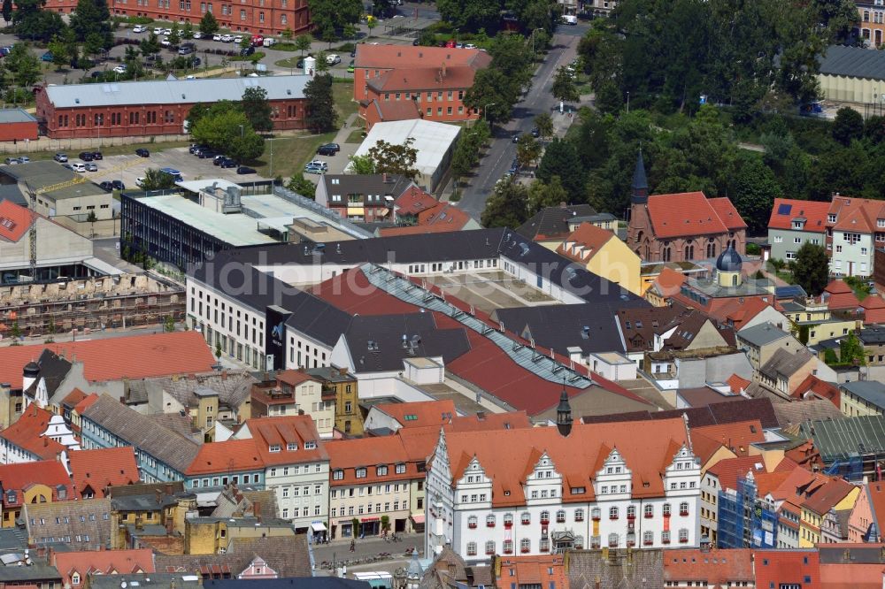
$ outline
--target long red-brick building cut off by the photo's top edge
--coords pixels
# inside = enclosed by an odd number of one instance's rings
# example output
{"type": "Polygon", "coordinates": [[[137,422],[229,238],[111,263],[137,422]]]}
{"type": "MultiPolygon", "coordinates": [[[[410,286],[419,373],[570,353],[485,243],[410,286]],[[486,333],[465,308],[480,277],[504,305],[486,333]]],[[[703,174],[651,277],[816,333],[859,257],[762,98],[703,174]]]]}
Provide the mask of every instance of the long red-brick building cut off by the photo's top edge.
{"type": "MultiPolygon", "coordinates": [[[[280,34],[289,29],[294,34],[307,33],[312,27],[307,0],[240,0],[239,3],[208,0],[111,0],[109,8],[119,16],[142,16],[151,19],[189,22],[198,25],[205,13],[219,21],[219,27],[231,31],[280,34]]],[[[70,12],[77,0],[49,0],[46,7],[70,12]]]]}

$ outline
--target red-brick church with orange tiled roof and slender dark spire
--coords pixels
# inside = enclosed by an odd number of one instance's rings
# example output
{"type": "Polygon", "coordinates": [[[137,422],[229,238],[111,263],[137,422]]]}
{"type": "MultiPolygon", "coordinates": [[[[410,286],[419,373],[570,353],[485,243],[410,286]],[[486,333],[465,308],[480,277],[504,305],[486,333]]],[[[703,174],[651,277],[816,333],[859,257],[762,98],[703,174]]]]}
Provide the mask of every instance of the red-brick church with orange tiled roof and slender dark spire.
{"type": "Polygon", "coordinates": [[[645,262],[716,259],[726,249],[743,255],[747,224],[727,198],[703,192],[649,195],[643,153],[636,157],[627,246],[645,262]]]}

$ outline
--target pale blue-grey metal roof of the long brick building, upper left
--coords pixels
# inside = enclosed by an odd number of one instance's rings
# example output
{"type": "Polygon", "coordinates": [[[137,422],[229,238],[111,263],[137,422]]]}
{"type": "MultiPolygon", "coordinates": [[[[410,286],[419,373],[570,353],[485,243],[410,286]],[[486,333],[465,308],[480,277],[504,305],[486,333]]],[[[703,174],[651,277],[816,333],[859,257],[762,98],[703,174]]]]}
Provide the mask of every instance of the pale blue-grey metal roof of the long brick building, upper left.
{"type": "Polygon", "coordinates": [[[47,86],[46,95],[56,108],[124,106],[127,104],[215,103],[240,100],[246,88],[265,88],[269,100],[304,98],[311,76],[262,76],[204,80],[150,80],[103,84],[47,86]]]}

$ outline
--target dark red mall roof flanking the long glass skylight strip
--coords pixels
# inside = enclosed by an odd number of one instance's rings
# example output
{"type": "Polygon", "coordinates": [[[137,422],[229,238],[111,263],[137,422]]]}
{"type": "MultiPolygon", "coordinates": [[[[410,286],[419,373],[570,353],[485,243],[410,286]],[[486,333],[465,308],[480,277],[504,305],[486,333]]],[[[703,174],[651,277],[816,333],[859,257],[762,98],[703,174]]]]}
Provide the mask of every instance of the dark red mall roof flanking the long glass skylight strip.
{"type": "MultiPolygon", "coordinates": [[[[438,287],[431,285],[428,287],[431,287],[435,293],[440,292],[438,287]]],[[[362,271],[358,269],[351,269],[326,280],[314,287],[312,293],[348,313],[390,315],[419,312],[418,307],[373,287],[362,271]]],[[[446,302],[458,309],[470,310],[469,305],[451,295],[446,295],[445,299],[446,302]]],[[[464,329],[464,326],[456,319],[436,311],[430,312],[434,316],[437,329],[464,329]]],[[[481,310],[474,310],[474,312],[476,318],[497,328],[498,324],[491,321],[488,314],[481,310]]],[[[533,372],[513,362],[503,349],[498,348],[488,338],[470,329],[465,331],[470,349],[466,354],[448,363],[447,370],[481,387],[489,394],[494,394],[514,409],[525,410],[528,415],[535,415],[556,405],[563,388],[561,383],[551,382],[536,376],[533,372]]],[[[507,332],[507,335],[520,343],[528,343],[515,333],[507,332]]],[[[569,363],[567,358],[558,357],[558,359],[566,365],[569,363]]],[[[592,379],[606,391],[643,405],[649,404],[639,395],[631,393],[623,386],[604,379],[596,373],[593,373],[592,379]]],[[[570,397],[587,390],[566,386],[566,392],[570,397]]]]}

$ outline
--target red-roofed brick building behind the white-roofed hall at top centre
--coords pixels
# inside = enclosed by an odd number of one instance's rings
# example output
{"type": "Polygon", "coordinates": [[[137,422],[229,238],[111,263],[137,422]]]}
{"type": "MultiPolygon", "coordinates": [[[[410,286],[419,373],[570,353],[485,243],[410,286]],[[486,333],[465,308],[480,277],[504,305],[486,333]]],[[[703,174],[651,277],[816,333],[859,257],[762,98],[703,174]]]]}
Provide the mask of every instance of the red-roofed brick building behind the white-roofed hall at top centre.
{"type": "Polygon", "coordinates": [[[380,121],[479,119],[464,104],[477,70],[491,63],[481,50],[358,45],[353,97],[366,130],[380,121]]]}

